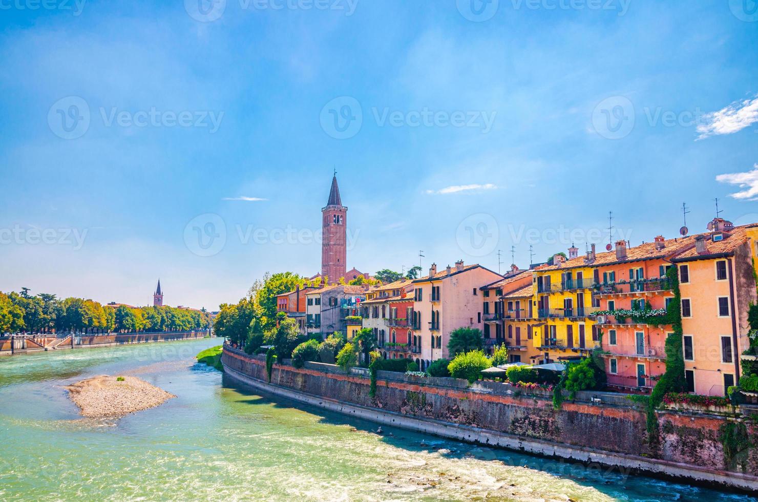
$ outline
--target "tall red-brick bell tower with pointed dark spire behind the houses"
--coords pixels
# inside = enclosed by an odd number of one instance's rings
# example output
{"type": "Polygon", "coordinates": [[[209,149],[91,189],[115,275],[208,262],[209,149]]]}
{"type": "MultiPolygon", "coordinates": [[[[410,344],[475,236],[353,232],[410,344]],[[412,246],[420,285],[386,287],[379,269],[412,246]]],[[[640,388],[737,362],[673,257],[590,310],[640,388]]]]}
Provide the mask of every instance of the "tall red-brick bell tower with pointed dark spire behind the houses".
{"type": "Polygon", "coordinates": [[[321,277],[328,276],[330,284],[337,284],[345,277],[346,263],[346,214],[347,208],[340,199],[337,187],[337,171],[334,171],[329,201],[321,209],[323,238],[321,243],[321,277]]]}

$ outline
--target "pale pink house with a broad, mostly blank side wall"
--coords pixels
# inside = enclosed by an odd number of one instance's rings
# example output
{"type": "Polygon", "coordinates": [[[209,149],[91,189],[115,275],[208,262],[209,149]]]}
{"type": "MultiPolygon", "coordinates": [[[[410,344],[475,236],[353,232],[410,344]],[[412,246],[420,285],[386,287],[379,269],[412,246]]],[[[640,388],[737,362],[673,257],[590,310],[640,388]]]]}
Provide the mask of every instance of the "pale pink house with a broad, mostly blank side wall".
{"type": "Polygon", "coordinates": [[[437,271],[432,264],[429,275],[413,281],[413,331],[420,341],[417,359],[424,371],[435,359],[449,359],[447,343],[457,328],[478,328],[484,331],[481,287],[503,279],[503,276],[481,265],[456,262],[437,271]]]}

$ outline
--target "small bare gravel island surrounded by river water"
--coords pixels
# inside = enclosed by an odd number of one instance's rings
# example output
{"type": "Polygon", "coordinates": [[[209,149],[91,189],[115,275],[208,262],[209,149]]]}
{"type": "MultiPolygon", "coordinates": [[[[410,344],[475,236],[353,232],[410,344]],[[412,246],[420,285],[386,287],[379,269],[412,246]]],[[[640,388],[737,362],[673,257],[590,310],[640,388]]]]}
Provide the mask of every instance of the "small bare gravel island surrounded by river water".
{"type": "Polygon", "coordinates": [[[155,408],[176,397],[133,376],[100,375],[65,388],[82,416],[89,418],[124,416],[155,408]]]}

